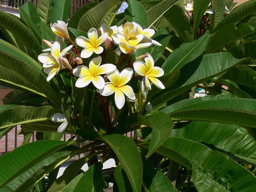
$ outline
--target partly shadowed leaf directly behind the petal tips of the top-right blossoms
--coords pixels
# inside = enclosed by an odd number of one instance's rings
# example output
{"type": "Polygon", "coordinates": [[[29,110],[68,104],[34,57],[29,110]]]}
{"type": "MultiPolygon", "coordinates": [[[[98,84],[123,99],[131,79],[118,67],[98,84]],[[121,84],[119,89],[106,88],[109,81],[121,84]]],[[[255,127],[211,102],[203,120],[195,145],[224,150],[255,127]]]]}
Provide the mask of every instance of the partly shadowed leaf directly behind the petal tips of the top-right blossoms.
{"type": "Polygon", "coordinates": [[[152,39],[162,44],[162,46],[153,46],[151,50],[150,54],[154,58],[154,61],[156,62],[159,59],[159,57],[163,54],[165,47],[167,46],[171,39],[171,35],[166,29],[159,29],[158,31],[156,31],[155,35],[152,36],[152,39]]]}

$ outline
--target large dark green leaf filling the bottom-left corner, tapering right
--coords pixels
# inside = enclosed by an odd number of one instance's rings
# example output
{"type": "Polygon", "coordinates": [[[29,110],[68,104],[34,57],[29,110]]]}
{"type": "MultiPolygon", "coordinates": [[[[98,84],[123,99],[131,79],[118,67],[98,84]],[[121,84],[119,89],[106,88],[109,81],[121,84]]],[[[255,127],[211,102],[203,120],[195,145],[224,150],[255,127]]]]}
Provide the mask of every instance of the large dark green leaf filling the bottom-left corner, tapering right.
{"type": "MultiPolygon", "coordinates": [[[[65,148],[75,142],[65,142],[56,140],[42,140],[28,143],[6,153],[0,157],[2,171],[0,172],[0,188],[10,181],[19,178],[32,170],[36,164],[51,156],[53,153],[65,148]]],[[[47,160],[46,160],[47,161],[47,160]]]]}

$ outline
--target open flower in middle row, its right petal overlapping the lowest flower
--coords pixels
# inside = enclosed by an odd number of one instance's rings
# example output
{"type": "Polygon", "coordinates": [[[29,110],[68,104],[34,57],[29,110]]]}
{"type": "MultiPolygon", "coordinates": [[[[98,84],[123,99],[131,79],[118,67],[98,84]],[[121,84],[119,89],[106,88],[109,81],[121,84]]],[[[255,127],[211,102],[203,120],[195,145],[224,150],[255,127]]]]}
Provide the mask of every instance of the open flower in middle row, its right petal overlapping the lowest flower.
{"type": "Polygon", "coordinates": [[[101,75],[115,71],[116,66],[113,64],[100,65],[101,57],[93,58],[89,63],[89,68],[80,65],[73,70],[73,74],[79,78],[76,80],[76,87],[85,87],[92,82],[97,89],[102,89],[105,81],[101,75]]]}

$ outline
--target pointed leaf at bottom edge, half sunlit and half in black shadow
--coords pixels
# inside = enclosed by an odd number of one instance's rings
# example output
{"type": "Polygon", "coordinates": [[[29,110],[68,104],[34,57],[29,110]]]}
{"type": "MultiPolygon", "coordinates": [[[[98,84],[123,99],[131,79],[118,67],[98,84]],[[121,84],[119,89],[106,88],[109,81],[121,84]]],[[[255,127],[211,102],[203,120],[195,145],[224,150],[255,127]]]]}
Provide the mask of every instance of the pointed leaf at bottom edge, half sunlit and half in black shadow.
{"type": "Polygon", "coordinates": [[[102,167],[100,162],[92,165],[80,178],[75,178],[76,182],[71,181],[62,192],[100,192],[105,184],[102,167]]]}

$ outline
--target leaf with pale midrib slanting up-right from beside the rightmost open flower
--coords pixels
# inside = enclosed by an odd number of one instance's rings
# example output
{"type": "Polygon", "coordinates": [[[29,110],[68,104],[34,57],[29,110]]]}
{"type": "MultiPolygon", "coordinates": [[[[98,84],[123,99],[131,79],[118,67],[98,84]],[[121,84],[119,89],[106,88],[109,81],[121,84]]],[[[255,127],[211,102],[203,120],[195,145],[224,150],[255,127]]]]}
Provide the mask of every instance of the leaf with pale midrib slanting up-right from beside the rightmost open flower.
{"type": "Polygon", "coordinates": [[[182,44],[178,49],[175,49],[164,61],[162,69],[165,73],[179,70],[188,62],[196,59],[201,55],[209,41],[209,34],[205,34],[196,41],[182,44]]]}

